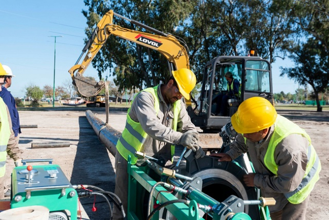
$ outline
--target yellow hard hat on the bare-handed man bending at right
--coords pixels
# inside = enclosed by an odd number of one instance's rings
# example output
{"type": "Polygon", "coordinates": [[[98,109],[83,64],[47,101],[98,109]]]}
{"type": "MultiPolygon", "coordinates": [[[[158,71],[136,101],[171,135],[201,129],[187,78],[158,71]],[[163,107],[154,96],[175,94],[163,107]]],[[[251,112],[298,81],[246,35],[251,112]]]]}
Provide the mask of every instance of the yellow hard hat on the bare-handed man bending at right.
{"type": "Polygon", "coordinates": [[[272,126],[276,117],[277,113],[267,99],[252,97],[241,103],[231,122],[237,133],[250,134],[272,126]]]}

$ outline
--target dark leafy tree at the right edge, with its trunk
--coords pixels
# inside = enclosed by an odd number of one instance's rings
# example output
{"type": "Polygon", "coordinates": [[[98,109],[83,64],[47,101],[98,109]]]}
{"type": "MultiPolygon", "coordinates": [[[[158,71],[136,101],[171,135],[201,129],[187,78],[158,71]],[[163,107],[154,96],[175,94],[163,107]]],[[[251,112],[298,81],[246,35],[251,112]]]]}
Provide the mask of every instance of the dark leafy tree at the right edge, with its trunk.
{"type": "Polygon", "coordinates": [[[280,76],[287,75],[302,85],[310,84],[317,104],[317,111],[321,112],[319,93],[324,93],[329,84],[329,54],[326,47],[315,37],[307,42],[293,45],[289,48],[290,59],[295,67],[281,68],[280,76]]]}

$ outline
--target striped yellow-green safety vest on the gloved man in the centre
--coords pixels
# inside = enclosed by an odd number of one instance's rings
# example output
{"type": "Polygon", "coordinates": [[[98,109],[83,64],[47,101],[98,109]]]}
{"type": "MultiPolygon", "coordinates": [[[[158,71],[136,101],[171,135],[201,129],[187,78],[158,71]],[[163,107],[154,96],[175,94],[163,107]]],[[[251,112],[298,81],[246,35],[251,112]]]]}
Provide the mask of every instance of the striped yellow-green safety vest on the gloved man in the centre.
{"type": "MultiPolygon", "coordinates": [[[[157,96],[157,87],[158,87],[158,85],[155,87],[147,88],[147,89],[143,90],[144,92],[151,93],[152,96],[154,97],[154,109],[155,109],[156,114],[158,114],[159,109],[160,109],[160,102],[159,102],[159,98],[157,96]]],[[[141,91],[141,92],[143,92],[143,91],[141,91]]],[[[177,122],[178,122],[178,114],[180,112],[180,106],[181,106],[180,100],[178,100],[174,103],[174,107],[173,107],[174,108],[174,121],[173,121],[174,130],[177,130],[177,122]]],[[[116,150],[126,160],[128,160],[128,156],[130,155],[132,158],[132,164],[136,164],[137,159],[138,159],[136,156],[136,152],[141,150],[148,135],[143,130],[143,128],[139,122],[136,122],[131,119],[131,117],[129,116],[130,110],[131,110],[131,107],[128,109],[126,126],[125,126],[124,131],[122,131],[122,135],[116,144],[116,150]]],[[[175,154],[175,145],[172,145],[171,146],[172,159],[174,157],[174,154],[175,154]]]]}

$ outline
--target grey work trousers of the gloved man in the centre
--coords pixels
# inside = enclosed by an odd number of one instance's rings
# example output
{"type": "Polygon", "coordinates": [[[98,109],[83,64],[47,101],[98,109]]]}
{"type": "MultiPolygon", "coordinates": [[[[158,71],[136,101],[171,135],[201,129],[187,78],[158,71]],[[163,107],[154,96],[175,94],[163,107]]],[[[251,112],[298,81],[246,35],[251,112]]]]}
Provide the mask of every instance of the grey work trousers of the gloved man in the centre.
{"type": "MultiPolygon", "coordinates": [[[[117,195],[122,205],[124,206],[125,213],[128,213],[128,162],[120,155],[118,151],[115,154],[115,190],[114,194],[117,195]]],[[[121,211],[114,205],[113,206],[113,219],[121,220],[124,217],[121,211]]]]}

